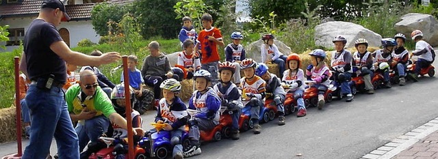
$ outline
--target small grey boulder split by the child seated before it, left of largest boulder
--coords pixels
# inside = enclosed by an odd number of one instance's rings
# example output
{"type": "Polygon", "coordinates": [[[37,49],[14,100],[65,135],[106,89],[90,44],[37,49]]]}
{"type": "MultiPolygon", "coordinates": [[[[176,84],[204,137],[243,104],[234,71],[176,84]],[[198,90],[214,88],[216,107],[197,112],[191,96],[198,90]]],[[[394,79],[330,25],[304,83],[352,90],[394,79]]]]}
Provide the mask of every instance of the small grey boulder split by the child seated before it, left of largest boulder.
{"type": "MultiPolygon", "coordinates": [[[[246,58],[254,59],[257,62],[261,62],[261,44],[263,44],[263,40],[257,40],[245,47],[245,56],[246,58]]],[[[292,53],[292,50],[289,46],[286,46],[283,42],[279,40],[274,40],[274,44],[279,48],[280,52],[283,55],[289,55],[292,53]]]]}

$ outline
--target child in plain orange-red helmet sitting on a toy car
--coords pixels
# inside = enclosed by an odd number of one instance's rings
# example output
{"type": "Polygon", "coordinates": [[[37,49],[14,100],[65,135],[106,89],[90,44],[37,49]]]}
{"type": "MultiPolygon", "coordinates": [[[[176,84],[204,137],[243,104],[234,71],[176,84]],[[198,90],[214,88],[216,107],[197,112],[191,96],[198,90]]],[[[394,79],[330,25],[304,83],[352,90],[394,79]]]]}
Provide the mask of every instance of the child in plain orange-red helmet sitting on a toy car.
{"type": "Polygon", "coordinates": [[[296,117],[304,117],[307,115],[306,106],[302,95],[304,95],[304,71],[301,70],[300,56],[296,53],[289,55],[286,59],[287,70],[283,73],[281,85],[287,93],[294,93],[294,100],[298,104],[298,113],[296,117]]]}

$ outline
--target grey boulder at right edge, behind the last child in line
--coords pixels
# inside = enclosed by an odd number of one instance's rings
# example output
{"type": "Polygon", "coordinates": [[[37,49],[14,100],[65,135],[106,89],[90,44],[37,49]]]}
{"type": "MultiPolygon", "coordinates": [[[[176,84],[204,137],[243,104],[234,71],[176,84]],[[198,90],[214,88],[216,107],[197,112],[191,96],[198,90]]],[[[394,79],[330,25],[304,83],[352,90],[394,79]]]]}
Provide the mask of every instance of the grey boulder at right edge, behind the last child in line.
{"type": "Polygon", "coordinates": [[[398,33],[411,38],[411,32],[421,30],[424,40],[432,46],[438,46],[438,22],[429,14],[409,13],[402,16],[402,20],[394,26],[398,33]]]}

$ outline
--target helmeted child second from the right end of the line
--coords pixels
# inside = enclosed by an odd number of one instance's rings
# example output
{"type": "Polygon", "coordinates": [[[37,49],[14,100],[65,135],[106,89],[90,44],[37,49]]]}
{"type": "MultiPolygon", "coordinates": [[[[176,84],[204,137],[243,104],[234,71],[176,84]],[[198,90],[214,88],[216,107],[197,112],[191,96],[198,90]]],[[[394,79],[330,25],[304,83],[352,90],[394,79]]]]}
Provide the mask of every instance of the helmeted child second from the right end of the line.
{"type": "Polygon", "coordinates": [[[403,46],[406,37],[402,33],[397,33],[396,35],[394,35],[394,40],[396,40],[397,46],[391,53],[391,68],[393,70],[396,70],[396,72],[398,73],[398,78],[400,79],[399,85],[404,86],[406,85],[404,76],[406,76],[407,63],[409,60],[409,52],[403,46]]]}

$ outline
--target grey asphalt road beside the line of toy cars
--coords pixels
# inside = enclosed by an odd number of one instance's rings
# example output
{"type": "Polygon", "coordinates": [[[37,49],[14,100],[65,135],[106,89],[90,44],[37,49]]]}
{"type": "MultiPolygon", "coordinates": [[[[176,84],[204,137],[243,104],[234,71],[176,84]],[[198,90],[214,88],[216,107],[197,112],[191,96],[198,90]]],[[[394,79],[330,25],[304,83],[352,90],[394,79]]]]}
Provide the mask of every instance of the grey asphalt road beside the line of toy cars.
{"type": "MultiPolygon", "coordinates": [[[[309,109],[305,117],[287,116],[285,126],[277,126],[274,119],[261,125],[261,134],[248,131],[238,141],[204,143],[203,154],[192,158],[360,158],[438,117],[437,82],[424,76],[374,95],[359,93],[350,103],[333,100],[322,111],[309,109]]],[[[142,115],[144,128],[151,128],[154,116],[142,115]]],[[[14,152],[16,143],[0,145],[0,156],[14,152]]]]}

